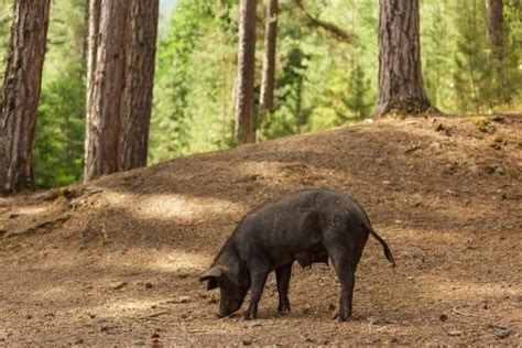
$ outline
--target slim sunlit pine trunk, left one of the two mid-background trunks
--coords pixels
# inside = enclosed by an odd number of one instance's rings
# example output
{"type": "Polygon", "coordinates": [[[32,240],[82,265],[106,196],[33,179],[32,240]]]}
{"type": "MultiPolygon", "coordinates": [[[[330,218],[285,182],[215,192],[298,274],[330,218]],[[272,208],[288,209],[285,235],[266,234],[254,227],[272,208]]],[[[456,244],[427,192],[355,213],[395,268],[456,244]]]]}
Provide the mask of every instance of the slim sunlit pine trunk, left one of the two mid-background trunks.
{"type": "Polygon", "coordinates": [[[253,83],[255,63],[257,0],[241,0],[239,19],[238,95],[233,139],[253,142],[253,83]]]}

